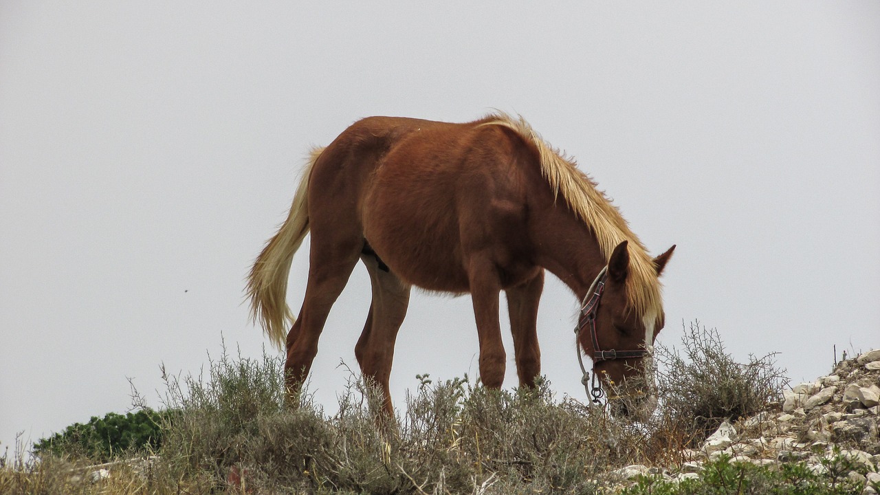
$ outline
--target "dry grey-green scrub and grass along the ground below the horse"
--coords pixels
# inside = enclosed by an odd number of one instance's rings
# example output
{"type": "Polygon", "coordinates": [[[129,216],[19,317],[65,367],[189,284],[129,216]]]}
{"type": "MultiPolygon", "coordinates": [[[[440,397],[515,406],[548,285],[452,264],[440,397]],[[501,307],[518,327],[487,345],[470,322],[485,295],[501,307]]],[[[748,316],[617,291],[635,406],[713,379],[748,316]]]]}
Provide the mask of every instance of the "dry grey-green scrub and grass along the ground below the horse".
{"type": "MultiPolygon", "coordinates": [[[[167,380],[165,412],[152,411],[161,444],[90,481],[90,464],[135,452],[82,447],[84,425],[43,440],[38,455],[3,458],[0,493],[317,493],[317,494],[589,494],[622,490],[614,469],[640,463],[680,464],[679,452],[705,439],[722,419],[751,416],[779,400],[785,383],[773,356],[738,364],[715,330],[693,324],[680,350],[660,348],[660,405],[647,423],[609,417],[549,383],[534,390],[494,391],[467,377],[432,381],[407,396],[399,417],[378,419],[380,399],[352,380],[333,416],[299,398],[285,403],[279,358],[210,362],[207,377],[167,380]]],[[[119,415],[117,415],[119,416],[119,415]]],[[[106,418],[118,419],[108,415],[106,418]]],[[[92,418],[93,420],[97,418],[92,418]]],[[[98,429],[95,428],[95,431],[98,429]]],[[[102,437],[103,438],[103,437],[102,437]]],[[[149,437],[153,438],[153,437],[149,437]]],[[[90,446],[92,443],[84,442],[90,446]]],[[[103,444],[101,444],[103,445],[103,444]]],[[[710,462],[680,484],[641,477],[625,493],[856,493],[846,461],[823,474],[803,464],[771,467],[710,462]],[[842,466],[842,467],[841,467],[842,466]]]]}

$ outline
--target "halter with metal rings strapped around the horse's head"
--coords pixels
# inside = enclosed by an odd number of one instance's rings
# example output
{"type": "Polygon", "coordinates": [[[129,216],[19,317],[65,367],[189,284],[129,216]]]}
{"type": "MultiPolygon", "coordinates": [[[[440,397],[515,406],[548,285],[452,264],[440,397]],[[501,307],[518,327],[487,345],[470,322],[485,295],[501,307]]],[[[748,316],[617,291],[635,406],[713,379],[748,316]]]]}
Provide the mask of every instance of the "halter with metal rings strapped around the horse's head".
{"type": "Polygon", "coordinates": [[[592,403],[596,404],[598,404],[599,399],[605,395],[605,391],[602,389],[601,383],[598,382],[596,374],[596,365],[598,363],[601,363],[602,361],[612,361],[614,359],[644,358],[645,355],[648,354],[648,351],[644,349],[637,349],[634,351],[615,351],[614,349],[611,349],[609,351],[602,351],[602,348],[599,347],[598,337],[596,336],[596,314],[598,313],[599,301],[602,299],[602,293],[605,292],[605,280],[607,278],[608,267],[605,266],[602,271],[599,271],[596,279],[593,280],[593,283],[590,285],[590,290],[587,291],[585,296],[583,296],[580,318],[578,318],[577,326],[575,327],[576,336],[580,336],[583,329],[590,329],[590,339],[593,343],[593,374],[591,380],[590,372],[583,367],[583,358],[581,358],[581,349],[579,345],[575,346],[575,350],[577,352],[577,363],[581,366],[581,372],[583,373],[581,384],[583,384],[583,389],[586,390],[592,403]]]}

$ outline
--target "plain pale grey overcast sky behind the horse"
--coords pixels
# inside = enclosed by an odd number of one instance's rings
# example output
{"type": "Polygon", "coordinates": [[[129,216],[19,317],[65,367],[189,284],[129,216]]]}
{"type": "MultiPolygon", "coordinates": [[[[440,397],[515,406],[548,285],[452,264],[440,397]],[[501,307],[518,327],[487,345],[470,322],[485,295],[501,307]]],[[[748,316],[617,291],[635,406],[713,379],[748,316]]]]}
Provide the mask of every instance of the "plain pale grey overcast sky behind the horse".
{"type": "MultiPolygon", "coordinates": [[[[524,115],[652,253],[678,244],[662,344],[700,319],[795,381],[880,346],[880,3],[314,4],[0,2],[0,454],[128,410],[129,377],[158,405],[160,364],[222,339],[275,352],[246,271],[309,146],[368,115],[524,115]]],[[[312,367],[330,410],[369,305],[359,266],[312,367]]],[[[550,280],[543,370],[583,399],[575,312],[550,280]]],[[[414,292],[396,405],[476,356],[469,297],[414,292]]]]}

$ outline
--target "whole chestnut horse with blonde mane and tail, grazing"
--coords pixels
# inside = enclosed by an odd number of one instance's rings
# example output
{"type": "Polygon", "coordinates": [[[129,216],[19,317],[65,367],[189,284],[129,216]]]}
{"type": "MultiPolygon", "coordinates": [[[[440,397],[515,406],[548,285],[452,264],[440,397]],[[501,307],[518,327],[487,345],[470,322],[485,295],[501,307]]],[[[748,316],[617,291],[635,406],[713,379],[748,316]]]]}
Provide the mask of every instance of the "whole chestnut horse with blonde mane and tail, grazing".
{"type": "Polygon", "coordinates": [[[295,393],[360,259],[372,303],[355,354],[392,413],[394,341],[413,285],[471,293],[480,379],[490,388],[504,379],[504,291],[519,383],[532,387],[540,373],[538,302],[550,270],[583,300],[577,341],[594,373],[606,387],[623,384],[641,396],[645,410],[645,380],[629,380],[642,382],[636,388],[626,379],[653,378],[649,351],[664,326],[658,276],[672,248],[652,259],[596,184],[522,118],[369,117],[312,151],[290,215],[254,262],[247,290],[253,317],[287,351],[287,387],[295,393]],[[296,318],[285,293],[290,262],[310,230],[309,277],[296,318]]]}

